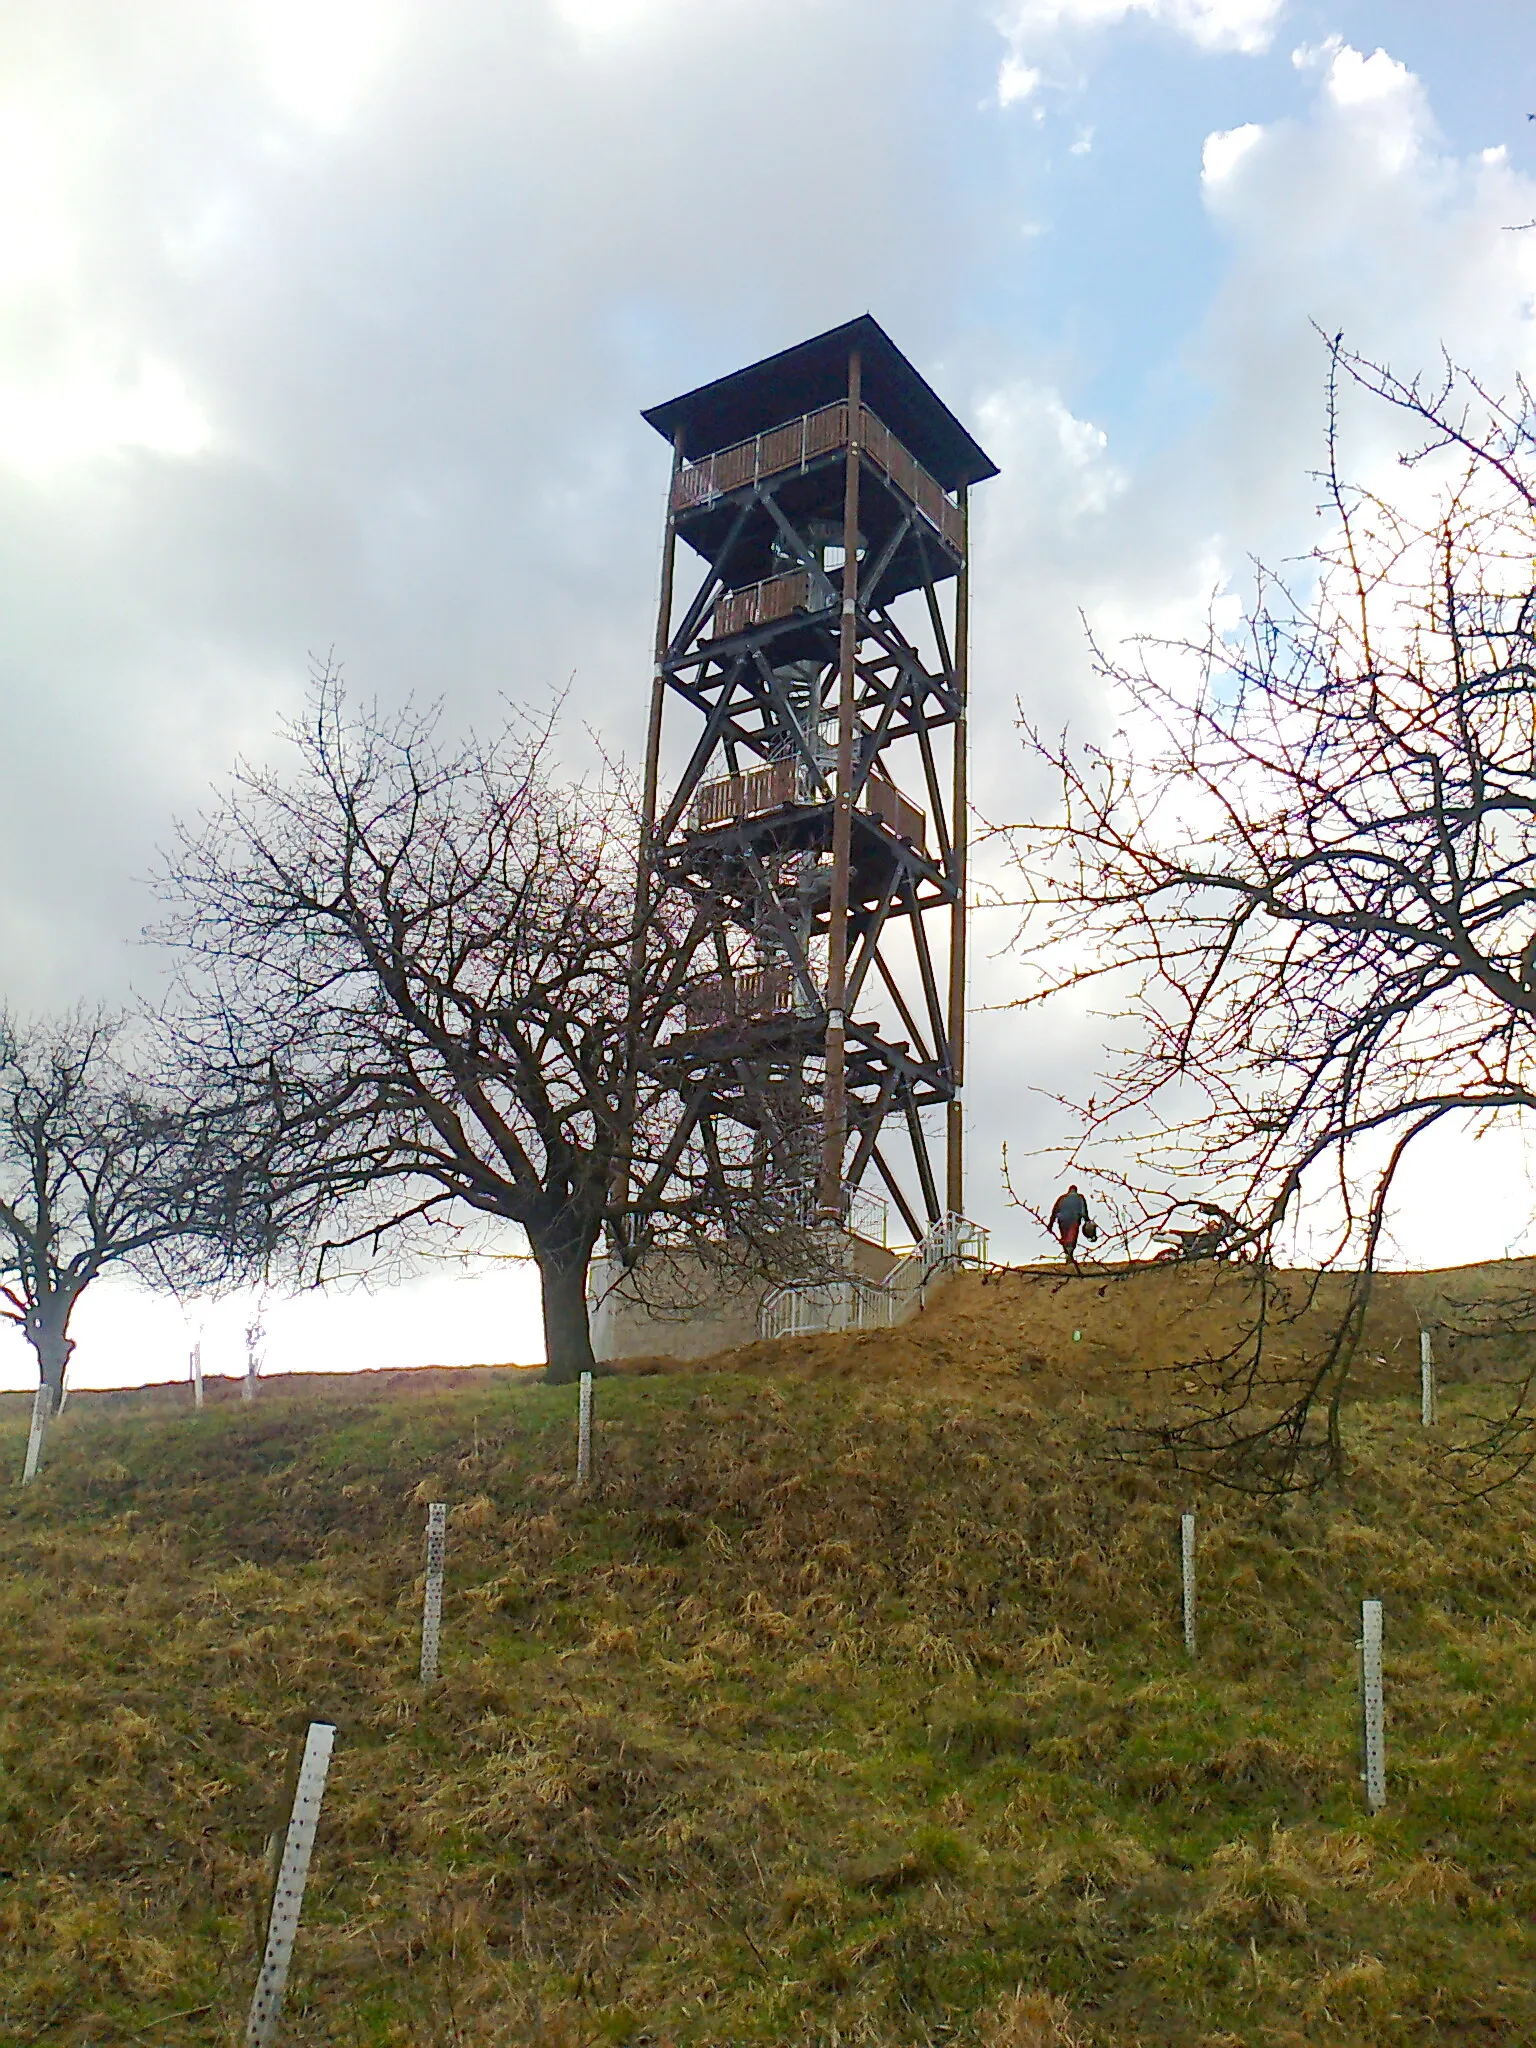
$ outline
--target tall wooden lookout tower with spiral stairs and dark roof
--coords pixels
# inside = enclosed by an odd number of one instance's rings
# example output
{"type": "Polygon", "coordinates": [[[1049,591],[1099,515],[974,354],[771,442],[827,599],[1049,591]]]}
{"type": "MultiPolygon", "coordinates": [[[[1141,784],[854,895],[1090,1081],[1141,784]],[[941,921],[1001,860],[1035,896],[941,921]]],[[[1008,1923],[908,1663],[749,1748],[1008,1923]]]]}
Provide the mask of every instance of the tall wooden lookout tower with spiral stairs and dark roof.
{"type": "Polygon", "coordinates": [[[823,1221],[883,1190],[924,1237],[965,1206],[967,494],[997,469],[868,315],[645,418],[641,899],[690,934],[668,1085],[823,1221]]]}

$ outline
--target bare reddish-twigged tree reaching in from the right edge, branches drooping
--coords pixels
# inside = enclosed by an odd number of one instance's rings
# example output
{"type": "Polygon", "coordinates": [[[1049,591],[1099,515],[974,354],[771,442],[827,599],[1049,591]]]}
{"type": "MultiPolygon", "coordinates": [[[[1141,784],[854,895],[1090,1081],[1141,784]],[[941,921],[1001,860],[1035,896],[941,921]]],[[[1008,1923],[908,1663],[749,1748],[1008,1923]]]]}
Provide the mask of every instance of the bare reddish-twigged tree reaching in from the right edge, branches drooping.
{"type": "MultiPolygon", "coordinates": [[[[1108,1161],[1130,1225],[1198,1192],[1239,1223],[1223,1251],[1257,1255],[1249,1335],[1161,1432],[1235,1483],[1339,1470],[1403,1161],[1536,1108],[1534,459],[1524,387],[1403,381],[1335,340],[1329,539],[1260,573],[1241,629],[1100,655],[1108,741],[1030,735],[1065,809],[1016,836],[1049,963],[1026,999],[1102,981],[1133,1026],[1073,1163],[1108,1161]],[[1409,424],[1391,492],[1341,473],[1343,389],[1409,424]],[[1303,1204],[1354,1278],[1333,1339],[1280,1374],[1272,1262],[1303,1204]]],[[[1505,1470],[1526,1456],[1499,1444],[1505,1470]]]]}

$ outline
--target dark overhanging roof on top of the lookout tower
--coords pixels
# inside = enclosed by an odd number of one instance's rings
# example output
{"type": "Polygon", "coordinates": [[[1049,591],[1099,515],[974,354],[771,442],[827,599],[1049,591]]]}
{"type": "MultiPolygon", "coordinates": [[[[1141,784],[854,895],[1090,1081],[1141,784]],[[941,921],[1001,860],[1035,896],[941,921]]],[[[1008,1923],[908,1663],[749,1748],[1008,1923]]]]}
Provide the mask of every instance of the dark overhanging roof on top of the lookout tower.
{"type": "Polygon", "coordinates": [[[848,356],[854,348],[864,403],[946,492],[997,475],[987,451],[868,313],[651,406],[641,418],[666,440],[682,428],[682,453],[686,461],[698,461],[784,420],[836,406],[848,395],[848,356]]]}

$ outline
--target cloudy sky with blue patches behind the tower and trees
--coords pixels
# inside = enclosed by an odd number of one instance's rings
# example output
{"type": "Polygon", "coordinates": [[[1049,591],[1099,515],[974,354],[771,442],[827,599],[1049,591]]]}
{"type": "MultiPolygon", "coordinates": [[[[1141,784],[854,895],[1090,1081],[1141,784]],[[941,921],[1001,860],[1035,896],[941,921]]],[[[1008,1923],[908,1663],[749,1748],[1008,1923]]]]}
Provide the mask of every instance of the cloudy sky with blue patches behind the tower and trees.
{"type": "MultiPolygon", "coordinates": [[[[1536,375],[1532,111],[1518,0],[12,0],[8,997],[154,987],[156,846],[272,752],[311,653],[455,723],[569,682],[637,750],[668,465],[639,408],[864,309],[1004,469],[975,780],[1026,815],[1016,705],[1100,715],[1079,614],[1178,627],[1311,543],[1313,324],[1536,375]]],[[[1081,1022],[977,1020],[971,1206],[1004,1255],[1040,1245],[997,1141],[1081,1071],[1081,1022]]],[[[1501,1251],[1470,1190],[1407,1251],[1501,1251]]],[[[213,1364],[246,1315],[213,1315],[213,1364]]],[[[516,1266],[266,1327],[274,1370],[539,1343],[516,1266]]],[[[78,1335],[82,1382],[186,1348],[121,1294],[78,1335]]]]}

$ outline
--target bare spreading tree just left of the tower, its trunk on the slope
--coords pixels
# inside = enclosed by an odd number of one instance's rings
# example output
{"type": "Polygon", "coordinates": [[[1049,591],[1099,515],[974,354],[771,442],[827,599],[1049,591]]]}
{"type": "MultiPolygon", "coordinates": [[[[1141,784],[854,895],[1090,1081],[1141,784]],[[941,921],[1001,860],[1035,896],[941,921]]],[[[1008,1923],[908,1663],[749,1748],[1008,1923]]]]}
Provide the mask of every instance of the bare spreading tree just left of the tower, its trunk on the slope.
{"type": "Polygon", "coordinates": [[[184,1042],[242,1096],[252,1186],[309,1280],[510,1225],[569,1380],[604,1231],[631,1260],[729,1237],[770,1266],[793,1206],[760,1147],[700,1141],[662,1071],[692,948],[637,918],[623,778],[561,782],[526,719],[461,748],[436,723],[352,711],[326,670],[297,772],[242,768],[182,836],[184,1042]]]}

